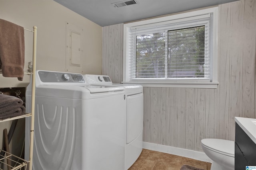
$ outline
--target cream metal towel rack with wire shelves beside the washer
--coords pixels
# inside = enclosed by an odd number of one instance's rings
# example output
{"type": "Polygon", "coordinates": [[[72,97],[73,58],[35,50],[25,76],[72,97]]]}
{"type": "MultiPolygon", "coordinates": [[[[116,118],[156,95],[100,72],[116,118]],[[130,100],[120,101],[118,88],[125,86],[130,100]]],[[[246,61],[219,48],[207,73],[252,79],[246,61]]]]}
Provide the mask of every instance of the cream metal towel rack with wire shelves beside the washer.
{"type": "MultiPolygon", "coordinates": [[[[33,158],[33,146],[34,146],[34,110],[35,110],[35,91],[36,91],[36,35],[37,35],[37,27],[34,26],[33,27],[33,31],[29,30],[29,29],[25,29],[26,31],[30,31],[33,32],[33,69],[32,69],[32,95],[31,95],[31,113],[25,113],[24,115],[21,116],[17,116],[17,117],[12,117],[12,118],[8,118],[8,119],[2,119],[0,120],[0,122],[4,122],[4,121],[10,121],[10,120],[15,120],[15,119],[21,119],[24,117],[31,117],[31,127],[30,127],[30,151],[29,151],[29,160],[24,160],[22,158],[19,158],[20,160],[22,160],[22,163],[18,163],[16,161],[17,166],[16,167],[12,167],[12,170],[18,170],[18,169],[22,169],[22,167],[25,167],[24,169],[27,168],[27,165],[29,167],[29,170],[32,170],[32,158],[33,158]]],[[[0,72],[1,74],[1,72],[0,72]]],[[[26,74],[26,73],[25,73],[26,74]]],[[[31,74],[31,73],[29,73],[31,74]]],[[[9,156],[6,156],[6,159],[10,159],[10,156],[14,156],[15,158],[17,158],[17,156],[10,154],[9,156]]],[[[4,158],[0,158],[0,162],[4,163],[4,158]]],[[[4,163],[6,164],[6,163],[4,163]]]]}

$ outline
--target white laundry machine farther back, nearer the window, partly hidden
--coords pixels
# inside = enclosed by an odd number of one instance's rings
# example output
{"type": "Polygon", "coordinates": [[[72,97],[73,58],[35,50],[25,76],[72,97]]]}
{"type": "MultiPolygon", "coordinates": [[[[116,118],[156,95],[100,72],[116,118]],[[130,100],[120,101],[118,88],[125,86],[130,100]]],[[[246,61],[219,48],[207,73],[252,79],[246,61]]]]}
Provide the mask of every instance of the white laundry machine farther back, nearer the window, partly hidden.
{"type": "Polygon", "coordinates": [[[89,84],[121,86],[126,95],[125,169],[134,164],[142,151],[143,136],[143,87],[136,84],[113,84],[109,76],[84,75],[89,84]]]}

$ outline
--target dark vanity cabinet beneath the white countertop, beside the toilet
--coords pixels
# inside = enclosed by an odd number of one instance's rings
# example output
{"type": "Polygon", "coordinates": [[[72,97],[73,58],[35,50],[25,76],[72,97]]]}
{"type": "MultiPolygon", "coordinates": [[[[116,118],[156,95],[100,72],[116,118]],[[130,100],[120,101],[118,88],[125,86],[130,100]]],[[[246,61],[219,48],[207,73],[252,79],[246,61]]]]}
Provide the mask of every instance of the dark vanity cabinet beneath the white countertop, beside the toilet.
{"type": "Polygon", "coordinates": [[[235,170],[245,170],[246,166],[256,166],[256,144],[236,123],[235,170]]]}

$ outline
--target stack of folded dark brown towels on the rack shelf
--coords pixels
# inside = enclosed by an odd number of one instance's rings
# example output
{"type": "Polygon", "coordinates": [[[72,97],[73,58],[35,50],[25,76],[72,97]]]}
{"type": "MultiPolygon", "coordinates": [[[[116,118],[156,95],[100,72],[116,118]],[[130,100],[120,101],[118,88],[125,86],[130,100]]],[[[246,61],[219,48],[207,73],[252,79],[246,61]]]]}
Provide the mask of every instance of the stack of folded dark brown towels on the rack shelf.
{"type": "Polygon", "coordinates": [[[25,110],[21,99],[0,94],[0,119],[22,115],[25,113],[25,110]]]}

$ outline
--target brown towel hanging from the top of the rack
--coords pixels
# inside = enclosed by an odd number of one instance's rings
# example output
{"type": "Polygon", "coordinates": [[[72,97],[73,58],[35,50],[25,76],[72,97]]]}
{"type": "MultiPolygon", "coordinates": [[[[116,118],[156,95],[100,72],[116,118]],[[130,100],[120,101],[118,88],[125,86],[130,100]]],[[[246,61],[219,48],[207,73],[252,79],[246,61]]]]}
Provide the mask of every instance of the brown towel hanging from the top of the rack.
{"type": "Polygon", "coordinates": [[[24,27],[0,19],[0,69],[4,77],[24,76],[24,27]]]}

